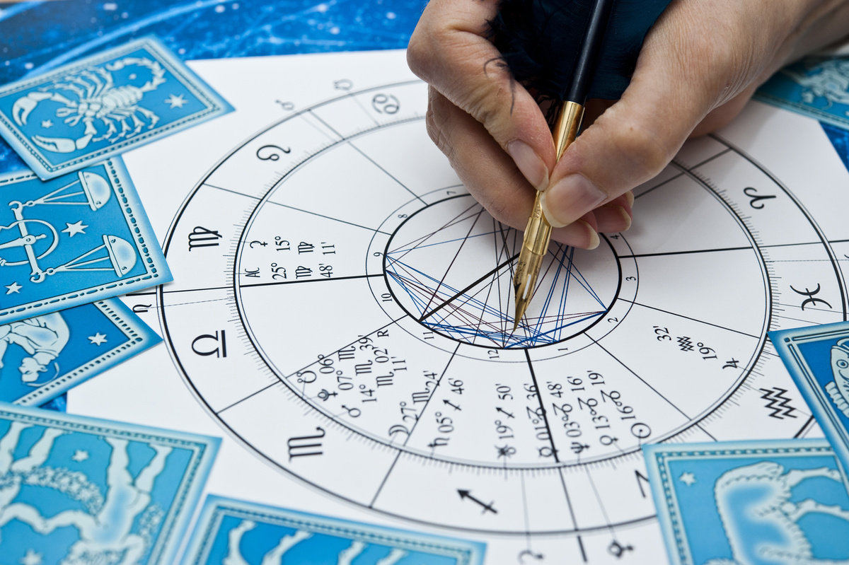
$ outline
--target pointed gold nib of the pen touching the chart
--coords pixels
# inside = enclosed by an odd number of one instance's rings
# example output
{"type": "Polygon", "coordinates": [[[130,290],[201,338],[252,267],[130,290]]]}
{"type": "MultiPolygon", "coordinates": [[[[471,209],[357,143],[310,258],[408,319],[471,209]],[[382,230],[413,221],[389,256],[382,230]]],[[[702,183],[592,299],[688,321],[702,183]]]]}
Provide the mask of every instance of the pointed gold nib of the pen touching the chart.
{"type": "Polygon", "coordinates": [[[519,327],[522,316],[525,316],[525,310],[537,288],[537,277],[539,277],[540,267],[543,266],[543,257],[548,253],[548,241],[551,239],[551,224],[545,219],[543,207],[539,203],[541,194],[537,193],[537,199],[534,200],[533,211],[525,228],[525,237],[522,239],[519,262],[516,264],[516,272],[513,276],[516,298],[514,332],[519,327]]]}

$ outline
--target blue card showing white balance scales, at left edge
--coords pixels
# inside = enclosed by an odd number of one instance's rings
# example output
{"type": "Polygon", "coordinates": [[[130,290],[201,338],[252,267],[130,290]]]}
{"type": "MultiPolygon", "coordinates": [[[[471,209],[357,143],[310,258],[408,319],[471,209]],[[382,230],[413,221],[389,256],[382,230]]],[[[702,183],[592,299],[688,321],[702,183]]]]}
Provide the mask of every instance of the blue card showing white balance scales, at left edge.
{"type": "Polygon", "coordinates": [[[121,158],[0,177],[0,324],[169,281],[121,158]]]}

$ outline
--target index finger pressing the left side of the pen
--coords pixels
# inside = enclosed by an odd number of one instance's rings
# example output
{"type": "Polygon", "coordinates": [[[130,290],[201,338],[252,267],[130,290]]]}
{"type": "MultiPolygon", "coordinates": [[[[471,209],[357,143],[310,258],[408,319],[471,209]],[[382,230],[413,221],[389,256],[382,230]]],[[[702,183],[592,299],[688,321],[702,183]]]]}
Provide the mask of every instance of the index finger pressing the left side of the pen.
{"type": "MultiPolygon", "coordinates": [[[[486,40],[496,0],[431,0],[408,47],[408,64],[458,109],[481,123],[537,189],[548,186],[554,143],[537,103],[486,40]]],[[[450,151],[444,145],[443,151],[450,151]]]]}

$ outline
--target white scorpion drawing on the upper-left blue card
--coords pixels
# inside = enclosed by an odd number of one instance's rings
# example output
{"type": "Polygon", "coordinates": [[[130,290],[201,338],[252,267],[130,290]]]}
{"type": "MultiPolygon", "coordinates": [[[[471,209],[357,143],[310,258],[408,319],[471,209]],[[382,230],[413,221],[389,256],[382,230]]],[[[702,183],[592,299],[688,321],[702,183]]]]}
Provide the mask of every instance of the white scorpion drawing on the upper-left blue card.
{"type": "MultiPolygon", "coordinates": [[[[12,107],[12,117],[19,126],[25,126],[26,120],[33,109],[45,100],[64,104],[64,108],[56,110],[56,117],[65,118],[65,124],[73,127],[80,121],[86,129],[82,137],[42,137],[32,136],[33,143],[40,148],[55,153],[71,153],[86,148],[88,143],[108,140],[115,143],[121,139],[129,139],[138,135],[144,126],[138,115],[149,121],[148,129],[152,129],[160,120],[149,109],[139,106],[145,92],[156,90],[165,79],[165,69],[157,61],[143,57],[127,57],[103,67],[90,67],[76,75],[67,75],[53,81],[52,85],[37,92],[30,92],[25,97],[15,101],[12,107]],[[151,78],[141,87],[134,85],[115,86],[112,72],[122,70],[128,65],[136,65],[150,70],[151,78]],[[70,92],[76,100],[68,98],[60,91],[70,92]],[[132,125],[127,120],[132,120],[132,125]],[[95,127],[95,120],[100,120],[106,126],[106,131],[100,137],[95,127]],[[118,131],[115,122],[121,126],[118,131]]],[[[131,75],[132,78],[132,75],[131,75]]]]}

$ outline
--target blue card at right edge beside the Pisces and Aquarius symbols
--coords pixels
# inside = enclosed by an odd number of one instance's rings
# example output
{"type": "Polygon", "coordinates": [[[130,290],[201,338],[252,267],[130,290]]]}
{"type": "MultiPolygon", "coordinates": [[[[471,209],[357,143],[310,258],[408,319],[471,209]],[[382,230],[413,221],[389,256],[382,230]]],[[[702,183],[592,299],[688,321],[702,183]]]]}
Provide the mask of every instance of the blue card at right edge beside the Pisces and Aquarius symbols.
{"type": "Polygon", "coordinates": [[[849,322],[770,332],[769,338],[849,469],[849,322]]]}

